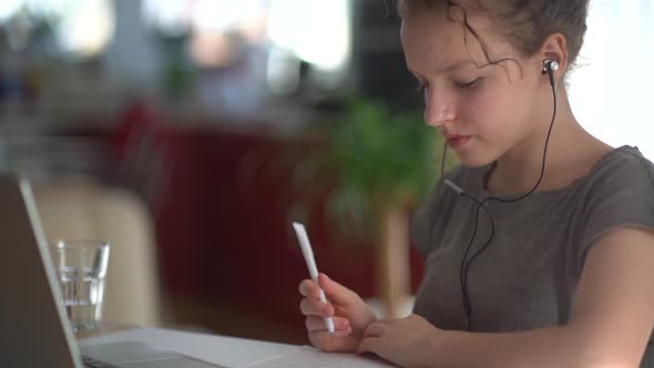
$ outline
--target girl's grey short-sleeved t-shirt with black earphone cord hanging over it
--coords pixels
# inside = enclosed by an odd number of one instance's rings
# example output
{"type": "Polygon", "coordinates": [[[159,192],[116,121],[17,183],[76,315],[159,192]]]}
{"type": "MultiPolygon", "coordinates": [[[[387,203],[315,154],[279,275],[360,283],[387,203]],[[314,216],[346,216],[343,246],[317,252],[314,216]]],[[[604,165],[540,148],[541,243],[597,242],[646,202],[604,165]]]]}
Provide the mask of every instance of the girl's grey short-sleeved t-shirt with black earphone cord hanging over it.
{"type": "MultiPolygon", "coordinates": [[[[488,196],[483,176],[489,170],[490,165],[458,166],[446,177],[482,201],[488,196]]],[[[654,229],[652,175],[654,165],[636,147],[622,146],[568,187],[535,192],[515,203],[487,202],[495,232],[468,272],[472,330],[565,325],[594,241],[619,227],[654,229]]],[[[442,329],[466,330],[468,326],[460,267],[477,208],[474,202],[438,185],[413,218],[415,243],[427,257],[413,313],[442,329]]],[[[468,257],[487,243],[490,229],[490,219],[481,211],[468,257]]],[[[651,338],[642,367],[654,367],[653,343],[651,338]]]]}

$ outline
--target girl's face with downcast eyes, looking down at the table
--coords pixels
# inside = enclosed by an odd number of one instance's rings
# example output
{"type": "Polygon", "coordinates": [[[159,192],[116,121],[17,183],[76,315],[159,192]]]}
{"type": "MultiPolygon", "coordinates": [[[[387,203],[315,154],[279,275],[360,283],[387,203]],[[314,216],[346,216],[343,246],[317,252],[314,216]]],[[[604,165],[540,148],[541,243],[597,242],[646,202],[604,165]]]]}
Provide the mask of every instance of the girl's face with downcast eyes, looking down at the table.
{"type": "Polygon", "coordinates": [[[468,16],[490,60],[512,60],[489,64],[479,40],[446,11],[407,17],[401,40],[407,67],[425,93],[426,123],[441,131],[463,165],[480,166],[528,141],[538,126],[545,76],[538,55],[521,58],[487,19],[468,16]]]}

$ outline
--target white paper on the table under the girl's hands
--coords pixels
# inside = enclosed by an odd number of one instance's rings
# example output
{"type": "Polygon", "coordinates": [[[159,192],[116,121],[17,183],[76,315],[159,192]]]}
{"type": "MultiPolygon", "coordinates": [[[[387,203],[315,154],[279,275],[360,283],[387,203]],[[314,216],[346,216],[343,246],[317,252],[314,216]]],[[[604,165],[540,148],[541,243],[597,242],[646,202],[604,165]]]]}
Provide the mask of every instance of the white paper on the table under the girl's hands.
{"type": "Polygon", "coordinates": [[[361,357],[355,354],[323,352],[311,347],[303,347],[295,352],[269,358],[247,368],[388,368],[395,367],[381,359],[361,357]]]}

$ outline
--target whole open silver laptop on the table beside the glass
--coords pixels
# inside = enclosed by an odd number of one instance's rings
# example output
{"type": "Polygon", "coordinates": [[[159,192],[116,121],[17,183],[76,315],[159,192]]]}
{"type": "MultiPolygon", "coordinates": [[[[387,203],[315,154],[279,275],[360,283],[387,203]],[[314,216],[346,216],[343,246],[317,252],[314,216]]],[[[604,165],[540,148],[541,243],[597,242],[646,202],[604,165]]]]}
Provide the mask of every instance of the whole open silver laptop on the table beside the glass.
{"type": "Polygon", "coordinates": [[[142,343],[78,346],[25,178],[0,173],[0,366],[215,368],[142,343]]]}

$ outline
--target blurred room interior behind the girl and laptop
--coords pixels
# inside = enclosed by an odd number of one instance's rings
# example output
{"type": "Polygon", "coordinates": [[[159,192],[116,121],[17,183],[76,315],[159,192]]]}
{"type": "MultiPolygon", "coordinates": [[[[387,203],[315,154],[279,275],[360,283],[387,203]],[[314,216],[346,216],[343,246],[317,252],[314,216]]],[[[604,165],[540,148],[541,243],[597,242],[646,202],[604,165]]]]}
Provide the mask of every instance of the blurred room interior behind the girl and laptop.
{"type": "MultiPolygon", "coordinates": [[[[591,4],[573,110],[652,159],[654,1],[591,4]]],[[[0,171],[32,178],[48,237],[112,243],[116,323],[305,344],[292,221],[406,314],[442,146],[421,109],[395,1],[0,3],[0,171]]]]}

